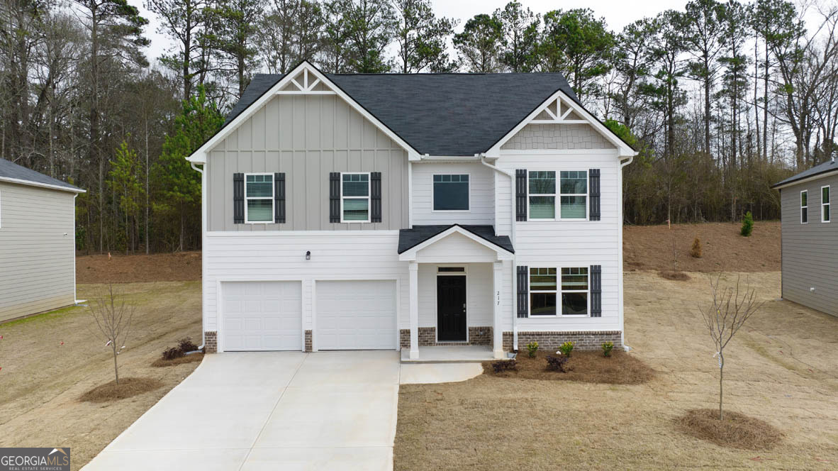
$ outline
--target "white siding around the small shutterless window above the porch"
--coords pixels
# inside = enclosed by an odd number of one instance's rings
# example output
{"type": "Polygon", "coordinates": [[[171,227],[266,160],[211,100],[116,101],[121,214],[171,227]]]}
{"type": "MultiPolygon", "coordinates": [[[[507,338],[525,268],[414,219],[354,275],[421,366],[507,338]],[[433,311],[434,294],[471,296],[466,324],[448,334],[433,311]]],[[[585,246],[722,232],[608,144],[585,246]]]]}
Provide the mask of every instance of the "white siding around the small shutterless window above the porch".
{"type": "Polygon", "coordinates": [[[413,224],[494,224],[494,171],[481,163],[415,163],[413,224]],[[433,175],[468,173],[468,211],[433,210],[433,175]]]}

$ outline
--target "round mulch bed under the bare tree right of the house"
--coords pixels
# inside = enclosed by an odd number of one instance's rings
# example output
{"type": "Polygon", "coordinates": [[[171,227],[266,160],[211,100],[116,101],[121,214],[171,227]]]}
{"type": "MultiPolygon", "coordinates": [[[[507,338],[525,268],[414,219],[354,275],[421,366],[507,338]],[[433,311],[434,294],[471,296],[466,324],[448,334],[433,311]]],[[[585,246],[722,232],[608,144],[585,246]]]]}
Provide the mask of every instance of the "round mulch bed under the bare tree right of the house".
{"type": "Polygon", "coordinates": [[[720,447],[765,450],[783,439],[783,433],[768,422],[732,411],[725,411],[719,420],[718,409],[693,409],[675,423],[687,435],[720,447]]]}

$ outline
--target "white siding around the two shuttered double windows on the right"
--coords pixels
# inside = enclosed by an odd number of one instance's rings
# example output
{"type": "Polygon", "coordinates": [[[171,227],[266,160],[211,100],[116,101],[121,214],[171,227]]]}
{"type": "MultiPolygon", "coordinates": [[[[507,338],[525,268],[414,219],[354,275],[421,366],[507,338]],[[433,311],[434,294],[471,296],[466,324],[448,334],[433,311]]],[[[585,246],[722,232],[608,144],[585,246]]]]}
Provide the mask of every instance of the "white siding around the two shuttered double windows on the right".
{"type": "MultiPolygon", "coordinates": [[[[600,169],[601,220],[598,221],[520,221],[515,223],[515,263],[528,267],[603,267],[603,314],[600,318],[518,318],[520,332],[524,331],[583,331],[622,330],[620,318],[620,172],[619,160],[613,150],[572,153],[502,153],[496,165],[512,173],[516,168],[527,170],[600,169]]],[[[510,179],[505,175],[499,181],[510,179]]],[[[558,186],[558,182],[556,182],[558,186]]],[[[498,198],[499,209],[509,217],[510,194],[498,198]],[[501,208],[500,205],[506,206],[501,208]]],[[[558,201],[556,201],[558,210],[558,201]]],[[[499,234],[504,225],[499,224],[499,234]]],[[[511,274],[511,272],[510,272],[511,274]]],[[[512,293],[515,287],[511,288],[512,293]]],[[[504,316],[505,318],[505,316],[504,316]]],[[[510,325],[511,327],[511,325],[510,325]]]]}

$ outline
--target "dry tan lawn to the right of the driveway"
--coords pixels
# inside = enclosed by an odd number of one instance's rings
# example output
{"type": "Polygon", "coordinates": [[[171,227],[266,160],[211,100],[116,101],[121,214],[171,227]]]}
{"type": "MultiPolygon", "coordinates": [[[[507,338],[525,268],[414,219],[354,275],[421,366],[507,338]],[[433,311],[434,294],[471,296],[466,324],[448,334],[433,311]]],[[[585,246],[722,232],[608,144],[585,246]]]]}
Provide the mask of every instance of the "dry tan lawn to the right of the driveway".
{"type": "Polygon", "coordinates": [[[690,275],[625,275],[626,343],[656,372],[644,384],[479,375],[401,386],[396,470],[838,468],[838,318],[779,301],[779,272],[742,274],[766,304],[727,346],[725,411],[785,437],[753,451],[681,432],[678,417],[718,404],[718,364],[696,308],[710,292],[690,275]]]}

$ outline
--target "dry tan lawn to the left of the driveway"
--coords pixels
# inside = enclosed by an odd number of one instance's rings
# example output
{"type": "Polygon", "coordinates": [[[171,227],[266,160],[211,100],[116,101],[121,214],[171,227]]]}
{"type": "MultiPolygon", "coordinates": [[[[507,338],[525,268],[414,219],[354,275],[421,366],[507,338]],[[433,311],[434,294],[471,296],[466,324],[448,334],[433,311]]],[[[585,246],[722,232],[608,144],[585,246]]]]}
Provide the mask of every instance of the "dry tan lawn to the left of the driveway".
{"type": "MultiPolygon", "coordinates": [[[[79,285],[89,298],[98,285],[79,285]]],[[[113,380],[113,356],[91,327],[87,308],[65,308],[0,324],[0,447],[71,447],[79,469],[137,417],[189,375],[198,362],[153,368],[168,345],[201,338],[200,282],[128,283],[137,306],[132,334],[119,355],[120,376],[158,380],[163,387],[122,401],[79,397],[113,380]]]]}

